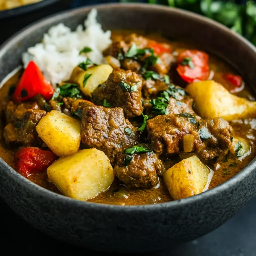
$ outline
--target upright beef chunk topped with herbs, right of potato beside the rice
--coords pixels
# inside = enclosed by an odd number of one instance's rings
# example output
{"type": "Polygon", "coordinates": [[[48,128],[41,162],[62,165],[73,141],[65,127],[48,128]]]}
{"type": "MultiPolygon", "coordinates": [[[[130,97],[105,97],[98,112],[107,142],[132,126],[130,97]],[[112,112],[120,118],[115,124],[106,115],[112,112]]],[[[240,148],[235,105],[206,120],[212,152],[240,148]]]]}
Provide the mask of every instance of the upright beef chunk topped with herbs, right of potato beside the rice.
{"type": "Polygon", "coordinates": [[[115,69],[108,80],[92,93],[93,101],[102,104],[106,100],[112,107],[121,107],[126,118],[140,116],[142,81],[131,71],[115,69]]]}

